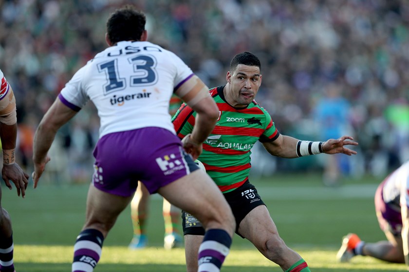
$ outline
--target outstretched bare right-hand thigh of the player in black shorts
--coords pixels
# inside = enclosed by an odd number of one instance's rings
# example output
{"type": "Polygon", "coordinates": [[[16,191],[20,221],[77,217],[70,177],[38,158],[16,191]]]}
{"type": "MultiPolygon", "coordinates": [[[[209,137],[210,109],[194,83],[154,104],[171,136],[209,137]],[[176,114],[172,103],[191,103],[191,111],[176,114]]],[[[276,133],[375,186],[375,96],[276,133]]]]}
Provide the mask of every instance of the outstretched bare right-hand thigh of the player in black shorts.
{"type": "Polygon", "coordinates": [[[260,205],[251,210],[241,221],[239,233],[258,249],[265,246],[265,242],[274,237],[279,238],[276,224],[270,217],[265,205],[260,205]]]}

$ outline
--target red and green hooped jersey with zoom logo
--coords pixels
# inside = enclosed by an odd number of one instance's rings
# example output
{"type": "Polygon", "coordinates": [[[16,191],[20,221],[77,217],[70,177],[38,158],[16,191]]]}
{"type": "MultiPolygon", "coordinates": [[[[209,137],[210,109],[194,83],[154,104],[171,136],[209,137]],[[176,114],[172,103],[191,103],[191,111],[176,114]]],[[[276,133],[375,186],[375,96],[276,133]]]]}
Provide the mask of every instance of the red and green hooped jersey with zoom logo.
{"type": "MultiPolygon", "coordinates": [[[[203,143],[199,160],[206,172],[225,193],[240,187],[250,172],[251,148],[257,140],[274,141],[279,131],[270,114],[253,101],[246,108],[235,108],[224,100],[224,86],[209,93],[219,107],[219,119],[210,136],[203,143]]],[[[192,132],[196,112],[185,103],[172,119],[180,138],[192,132]]]]}

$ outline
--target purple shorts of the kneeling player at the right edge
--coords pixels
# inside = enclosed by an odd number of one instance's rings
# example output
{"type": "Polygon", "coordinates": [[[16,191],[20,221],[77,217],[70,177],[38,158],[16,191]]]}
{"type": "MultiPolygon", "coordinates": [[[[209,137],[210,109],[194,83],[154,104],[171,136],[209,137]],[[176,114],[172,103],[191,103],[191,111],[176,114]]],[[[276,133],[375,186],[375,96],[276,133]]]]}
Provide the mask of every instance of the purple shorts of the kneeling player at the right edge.
{"type": "Polygon", "coordinates": [[[382,231],[390,231],[393,235],[399,236],[402,232],[402,215],[400,211],[385,203],[382,195],[384,184],[385,181],[379,185],[375,192],[376,217],[382,231]]]}

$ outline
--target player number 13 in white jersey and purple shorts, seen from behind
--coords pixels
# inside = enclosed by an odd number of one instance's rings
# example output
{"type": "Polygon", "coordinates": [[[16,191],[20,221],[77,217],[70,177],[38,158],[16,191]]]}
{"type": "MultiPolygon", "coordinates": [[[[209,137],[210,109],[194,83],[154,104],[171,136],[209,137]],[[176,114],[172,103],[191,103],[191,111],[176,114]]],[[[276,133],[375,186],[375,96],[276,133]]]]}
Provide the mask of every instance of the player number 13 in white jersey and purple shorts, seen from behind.
{"type": "Polygon", "coordinates": [[[147,41],[145,22],[145,15],[132,6],[108,18],[109,48],[74,74],[40,121],[34,139],[34,187],[50,160],[47,152],[57,130],[91,100],[100,117],[100,135],[72,271],[93,271],[104,238],[130,203],[139,180],[150,193],[158,192],[203,222],[199,271],[218,272],[235,222],[222,193],[193,159],[202,152],[219,110],[207,86],[179,57],[147,41]],[[183,144],[168,113],[173,93],[199,113],[183,144]]]}

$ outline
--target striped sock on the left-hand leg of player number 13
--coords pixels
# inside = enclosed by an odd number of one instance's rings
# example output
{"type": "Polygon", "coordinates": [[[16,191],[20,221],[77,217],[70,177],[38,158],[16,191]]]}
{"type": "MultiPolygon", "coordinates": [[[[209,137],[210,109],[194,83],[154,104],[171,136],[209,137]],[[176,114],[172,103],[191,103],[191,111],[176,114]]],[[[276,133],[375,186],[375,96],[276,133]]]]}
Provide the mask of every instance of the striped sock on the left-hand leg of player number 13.
{"type": "Polygon", "coordinates": [[[101,256],[103,241],[100,231],[83,230],[75,241],[72,272],[93,272],[101,256]]]}

